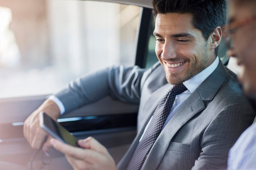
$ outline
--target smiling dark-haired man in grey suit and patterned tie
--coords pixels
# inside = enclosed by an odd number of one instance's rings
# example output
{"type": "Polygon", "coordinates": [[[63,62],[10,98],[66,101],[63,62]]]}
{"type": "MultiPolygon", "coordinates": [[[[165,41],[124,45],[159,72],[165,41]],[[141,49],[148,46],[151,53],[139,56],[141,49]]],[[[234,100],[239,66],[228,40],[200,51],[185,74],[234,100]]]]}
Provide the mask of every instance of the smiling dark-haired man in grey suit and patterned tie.
{"type": "MultiPolygon", "coordinates": [[[[25,121],[24,136],[33,148],[45,137],[38,125],[40,111],[57,119],[61,108],[67,112],[111,95],[140,102],[138,134],[118,169],[227,168],[229,148],[255,114],[217,57],[225,0],[153,0],[153,7],[159,63],[147,71],[109,68],[72,82],[51,98],[55,102],[46,100],[25,121]]],[[[79,141],[81,148],[56,139],[50,144],[74,169],[116,169],[106,148],[93,138],[79,141]]],[[[47,142],[43,149],[49,146],[47,142]]]]}

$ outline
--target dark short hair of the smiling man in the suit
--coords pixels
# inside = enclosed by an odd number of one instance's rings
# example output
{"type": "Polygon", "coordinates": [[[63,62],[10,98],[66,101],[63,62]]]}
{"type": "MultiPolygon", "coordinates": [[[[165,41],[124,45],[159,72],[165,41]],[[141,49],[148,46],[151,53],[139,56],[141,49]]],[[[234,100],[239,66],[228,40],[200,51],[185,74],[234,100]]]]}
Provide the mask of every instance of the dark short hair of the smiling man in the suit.
{"type": "MultiPolygon", "coordinates": [[[[192,25],[202,31],[207,40],[217,26],[226,23],[225,0],[153,0],[153,15],[167,13],[192,14],[192,25]]],[[[218,54],[218,47],[215,48],[218,54]]]]}

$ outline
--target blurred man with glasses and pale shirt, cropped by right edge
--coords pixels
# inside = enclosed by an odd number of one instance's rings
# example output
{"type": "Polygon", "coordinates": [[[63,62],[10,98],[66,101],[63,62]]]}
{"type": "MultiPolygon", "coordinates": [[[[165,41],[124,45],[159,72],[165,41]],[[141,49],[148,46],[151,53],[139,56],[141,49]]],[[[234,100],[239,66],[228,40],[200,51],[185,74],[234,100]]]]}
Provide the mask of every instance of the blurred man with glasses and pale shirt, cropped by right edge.
{"type": "MultiPolygon", "coordinates": [[[[239,80],[247,95],[256,98],[256,0],[232,0],[225,39],[228,55],[243,67],[239,80]]],[[[256,169],[256,124],[239,137],[228,157],[228,169],[256,169]]]]}

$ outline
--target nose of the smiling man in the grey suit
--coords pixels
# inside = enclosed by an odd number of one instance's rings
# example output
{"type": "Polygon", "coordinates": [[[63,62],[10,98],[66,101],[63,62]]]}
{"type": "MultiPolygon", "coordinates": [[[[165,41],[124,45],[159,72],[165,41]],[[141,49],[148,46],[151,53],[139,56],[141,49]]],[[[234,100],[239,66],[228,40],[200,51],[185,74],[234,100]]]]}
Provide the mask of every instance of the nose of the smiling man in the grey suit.
{"type": "Polygon", "coordinates": [[[175,46],[171,42],[165,42],[163,46],[163,51],[161,53],[161,58],[165,61],[171,58],[176,58],[177,53],[175,50],[175,46]]]}

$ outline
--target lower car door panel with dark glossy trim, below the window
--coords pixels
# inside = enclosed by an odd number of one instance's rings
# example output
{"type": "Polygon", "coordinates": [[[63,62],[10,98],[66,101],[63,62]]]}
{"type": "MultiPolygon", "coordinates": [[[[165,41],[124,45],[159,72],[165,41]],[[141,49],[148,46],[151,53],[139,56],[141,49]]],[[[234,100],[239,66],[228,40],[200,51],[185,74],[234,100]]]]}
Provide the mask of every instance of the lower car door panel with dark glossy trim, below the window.
{"type": "MultiPolygon", "coordinates": [[[[2,110],[2,119],[0,119],[0,161],[14,162],[24,166],[29,164],[36,150],[31,149],[28,142],[23,137],[22,122],[24,122],[31,112],[42,104],[44,99],[45,96],[0,100],[0,108],[2,110]]],[[[93,136],[102,143],[102,145],[107,147],[116,163],[118,163],[133,141],[133,138],[135,138],[137,110],[138,105],[114,101],[107,97],[96,103],[64,114],[64,116],[61,116],[58,120],[78,139],[93,136]],[[85,119],[80,120],[80,124],[83,126],[83,123],[85,123],[85,127],[78,126],[78,122],[63,121],[66,120],[63,118],[70,116],[84,117],[85,119]],[[86,117],[92,116],[94,117],[93,119],[86,119],[86,117]],[[122,118],[122,116],[124,118],[122,118]],[[130,122],[125,122],[127,120],[130,120],[130,122]],[[113,123],[111,123],[111,121],[113,123]],[[119,124],[114,125],[115,121],[119,122],[119,124]],[[123,121],[123,125],[126,125],[121,127],[121,121],[123,121]],[[73,124],[76,124],[76,127],[78,127],[80,131],[76,131],[77,129],[72,128],[74,127],[73,124]],[[102,126],[104,124],[108,127],[102,126]],[[89,128],[89,130],[86,128],[89,128]]],[[[43,153],[40,154],[42,155],[43,153]]],[[[55,150],[52,150],[50,154],[52,155],[52,162],[55,162],[55,159],[57,161],[63,157],[61,153],[55,150]]],[[[63,157],[63,159],[65,158],[63,157]]],[[[40,158],[38,158],[39,163],[40,161],[40,158]]]]}

